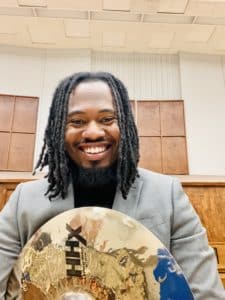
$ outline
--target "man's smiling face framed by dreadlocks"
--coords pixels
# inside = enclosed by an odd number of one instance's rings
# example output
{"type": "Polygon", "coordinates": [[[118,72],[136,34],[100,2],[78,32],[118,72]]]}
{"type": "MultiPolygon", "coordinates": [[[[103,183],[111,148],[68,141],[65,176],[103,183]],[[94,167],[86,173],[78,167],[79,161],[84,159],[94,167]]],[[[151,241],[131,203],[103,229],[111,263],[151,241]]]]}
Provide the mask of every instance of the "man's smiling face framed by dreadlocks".
{"type": "Polygon", "coordinates": [[[68,104],[65,146],[83,168],[105,168],[118,157],[120,131],[113,97],[104,81],[81,82],[68,104]]]}

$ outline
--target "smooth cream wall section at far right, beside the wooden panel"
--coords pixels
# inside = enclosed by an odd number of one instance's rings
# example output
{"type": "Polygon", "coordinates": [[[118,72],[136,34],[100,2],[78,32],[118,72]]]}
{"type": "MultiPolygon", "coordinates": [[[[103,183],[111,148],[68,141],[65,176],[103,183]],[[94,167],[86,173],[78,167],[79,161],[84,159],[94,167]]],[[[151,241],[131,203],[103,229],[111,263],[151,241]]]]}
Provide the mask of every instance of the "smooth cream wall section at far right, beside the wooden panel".
{"type": "Polygon", "coordinates": [[[225,174],[224,58],[180,55],[190,174],[225,174]]]}

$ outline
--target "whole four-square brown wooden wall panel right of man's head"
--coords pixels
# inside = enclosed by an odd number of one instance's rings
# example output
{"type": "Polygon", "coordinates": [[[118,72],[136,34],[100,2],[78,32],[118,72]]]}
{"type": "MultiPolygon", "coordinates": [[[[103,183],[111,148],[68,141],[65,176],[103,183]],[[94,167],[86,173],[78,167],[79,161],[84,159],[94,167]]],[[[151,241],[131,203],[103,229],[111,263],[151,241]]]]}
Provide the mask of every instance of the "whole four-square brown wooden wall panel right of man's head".
{"type": "Polygon", "coordinates": [[[136,107],[139,166],[166,174],[188,174],[183,101],[136,101],[136,107]]]}

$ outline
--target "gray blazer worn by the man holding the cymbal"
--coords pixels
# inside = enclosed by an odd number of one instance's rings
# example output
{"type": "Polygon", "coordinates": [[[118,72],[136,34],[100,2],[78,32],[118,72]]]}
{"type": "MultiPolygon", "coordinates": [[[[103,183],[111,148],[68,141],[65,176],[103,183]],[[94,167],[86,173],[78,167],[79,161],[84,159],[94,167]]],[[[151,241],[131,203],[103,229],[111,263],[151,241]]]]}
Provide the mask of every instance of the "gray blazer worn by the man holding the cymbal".
{"type": "MultiPolygon", "coordinates": [[[[224,300],[206,230],[176,178],[140,169],[140,177],[127,200],[117,190],[113,209],[150,229],[181,266],[197,300],[224,300]]],[[[4,299],[9,273],[21,249],[47,220],[74,208],[72,184],[65,200],[51,202],[44,193],[46,179],[20,184],[0,212],[0,299],[4,299]]]]}

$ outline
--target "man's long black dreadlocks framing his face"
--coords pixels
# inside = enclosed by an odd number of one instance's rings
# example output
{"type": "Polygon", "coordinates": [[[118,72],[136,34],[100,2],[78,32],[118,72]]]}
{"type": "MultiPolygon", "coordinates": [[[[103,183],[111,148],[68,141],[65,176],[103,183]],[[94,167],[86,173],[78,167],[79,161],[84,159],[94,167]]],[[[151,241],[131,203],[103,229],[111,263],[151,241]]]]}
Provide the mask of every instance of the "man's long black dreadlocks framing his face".
{"type": "Polygon", "coordinates": [[[49,199],[61,194],[67,195],[70,177],[69,158],[65,151],[65,126],[69,97],[80,82],[104,81],[110,87],[117,112],[120,129],[120,145],[117,163],[117,180],[124,198],[138,176],[139,141],[127,89],[115,76],[106,72],[80,72],[65,78],[56,88],[50,107],[48,123],[44,135],[44,145],[35,170],[48,165],[49,199]]]}

